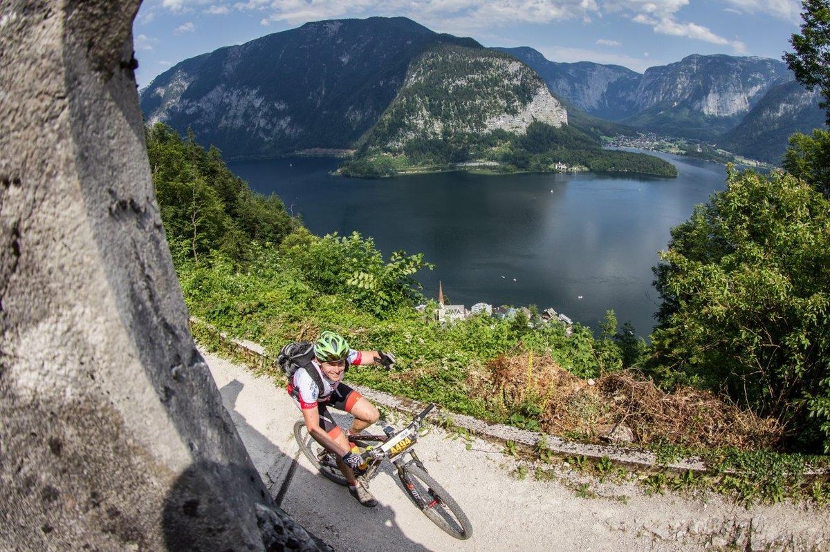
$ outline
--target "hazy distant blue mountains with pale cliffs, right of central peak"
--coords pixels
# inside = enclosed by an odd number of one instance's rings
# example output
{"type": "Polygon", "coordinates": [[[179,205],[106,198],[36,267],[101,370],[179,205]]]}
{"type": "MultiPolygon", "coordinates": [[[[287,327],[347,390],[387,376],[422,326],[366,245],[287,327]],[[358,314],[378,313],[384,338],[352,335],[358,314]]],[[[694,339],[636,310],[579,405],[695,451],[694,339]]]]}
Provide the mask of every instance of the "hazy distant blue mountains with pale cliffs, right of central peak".
{"type": "Polygon", "coordinates": [[[784,62],[759,57],[692,55],[640,75],[619,65],[549,61],[533,48],[500,50],[588,114],[684,138],[714,138],[735,128],[770,88],[793,78],[784,62]]]}

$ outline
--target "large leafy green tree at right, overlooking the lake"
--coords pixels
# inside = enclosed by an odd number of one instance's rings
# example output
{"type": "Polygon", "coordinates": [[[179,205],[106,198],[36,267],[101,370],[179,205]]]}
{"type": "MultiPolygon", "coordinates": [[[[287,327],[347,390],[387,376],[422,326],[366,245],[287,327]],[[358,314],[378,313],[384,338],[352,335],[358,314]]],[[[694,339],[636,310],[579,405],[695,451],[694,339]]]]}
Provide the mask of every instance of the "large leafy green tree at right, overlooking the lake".
{"type": "Polygon", "coordinates": [[[827,449],[830,203],[790,175],[728,172],[655,269],[652,373],[728,393],[827,449]]]}

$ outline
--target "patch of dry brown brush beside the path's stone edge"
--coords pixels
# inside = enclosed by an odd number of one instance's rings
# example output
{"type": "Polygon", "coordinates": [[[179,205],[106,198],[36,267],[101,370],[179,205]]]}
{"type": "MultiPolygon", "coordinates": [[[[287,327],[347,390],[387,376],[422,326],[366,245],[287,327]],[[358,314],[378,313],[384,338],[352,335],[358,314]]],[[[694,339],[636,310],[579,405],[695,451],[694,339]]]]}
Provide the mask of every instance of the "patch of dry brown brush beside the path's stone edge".
{"type": "Polygon", "coordinates": [[[783,429],[708,391],[681,387],[671,393],[632,371],[582,380],[549,356],[500,356],[471,372],[471,394],[501,414],[538,419],[540,430],[598,440],[618,426],[634,443],[688,447],[775,448],[783,429]]]}

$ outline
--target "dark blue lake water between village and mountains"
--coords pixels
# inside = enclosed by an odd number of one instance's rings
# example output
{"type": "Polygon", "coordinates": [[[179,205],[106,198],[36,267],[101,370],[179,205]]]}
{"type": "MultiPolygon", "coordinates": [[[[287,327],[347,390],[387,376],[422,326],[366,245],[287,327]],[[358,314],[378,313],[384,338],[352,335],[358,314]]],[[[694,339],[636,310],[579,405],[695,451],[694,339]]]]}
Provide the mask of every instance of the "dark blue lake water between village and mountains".
{"type": "Polygon", "coordinates": [[[554,307],[598,327],[607,309],[651,332],[657,251],[671,226],[725,187],[725,168],[667,154],[677,178],[466,172],[362,180],[332,177],[338,159],[234,162],[261,193],[281,196],[315,234],[358,230],[378,249],[421,252],[417,274],[452,303],[554,307]]]}

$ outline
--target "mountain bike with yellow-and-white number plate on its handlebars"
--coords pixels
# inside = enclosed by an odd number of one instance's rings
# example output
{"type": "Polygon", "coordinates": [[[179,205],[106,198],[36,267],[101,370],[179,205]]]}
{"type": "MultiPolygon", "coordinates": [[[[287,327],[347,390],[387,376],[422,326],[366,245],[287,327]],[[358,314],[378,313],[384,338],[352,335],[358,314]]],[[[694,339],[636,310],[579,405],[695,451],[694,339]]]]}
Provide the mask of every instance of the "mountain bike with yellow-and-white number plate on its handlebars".
{"type": "MultiPolygon", "coordinates": [[[[364,487],[369,488],[369,481],[377,475],[383,462],[392,462],[398,470],[398,479],[403,485],[403,490],[415,506],[449,535],[466,540],[472,535],[470,520],[444,487],[432,479],[413,450],[413,445],[422,437],[419,429],[423,420],[434,407],[435,404],[429,404],[399,431],[386,427],[383,429],[383,435],[361,433],[349,436],[349,440],[361,449],[360,458],[364,460],[364,463],[354,470],[354,475],[364,487]]],[[[294,424],[294,438],[300,443],[300,450],[305,457],[323,476],[339,485],[348,485],[343,472],[337,467],[334,453],[330,453],[311,437],[302,420],[294,424]]]]}

